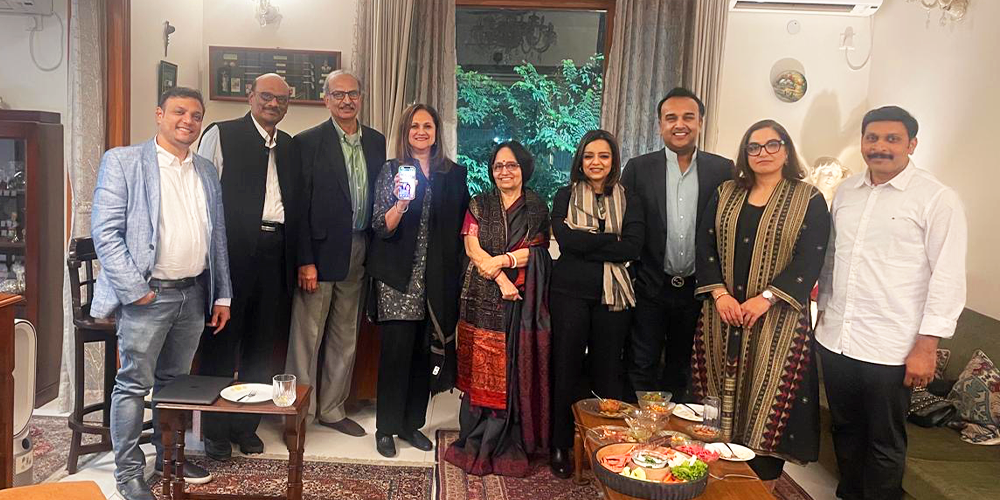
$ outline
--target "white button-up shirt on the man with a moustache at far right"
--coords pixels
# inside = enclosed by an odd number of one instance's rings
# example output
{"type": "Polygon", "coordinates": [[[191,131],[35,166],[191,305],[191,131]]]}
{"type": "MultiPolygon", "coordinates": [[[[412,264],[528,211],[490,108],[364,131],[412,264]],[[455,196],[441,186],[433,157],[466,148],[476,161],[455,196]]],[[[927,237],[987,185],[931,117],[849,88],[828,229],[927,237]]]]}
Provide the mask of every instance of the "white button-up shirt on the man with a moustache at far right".
{"type": "Polygon", "coordinates": [[[958,195],[913,162],[875,186],[841,184],[819,280],[816,340],[843,355],[902,365],[917,335],[950,338],[965,307],[968,227],[958,195]]]}

